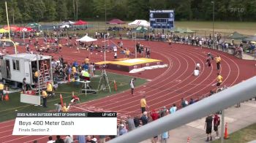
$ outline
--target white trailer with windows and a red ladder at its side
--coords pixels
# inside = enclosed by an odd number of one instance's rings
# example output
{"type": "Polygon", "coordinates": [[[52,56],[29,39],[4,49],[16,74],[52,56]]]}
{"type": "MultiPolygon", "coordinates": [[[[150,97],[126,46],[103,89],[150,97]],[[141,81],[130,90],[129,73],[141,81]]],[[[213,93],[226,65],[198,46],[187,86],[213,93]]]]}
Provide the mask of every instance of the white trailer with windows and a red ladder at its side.
{"type": "MultiPolygon", "coordinates": [[[[26,78],[26,84],[37,85],[34,78],[34,72],[37,71],[37,63],[39,63],[40,77],[48,70],[48,81],[53,80],[53,72],[51,66],[51,57],[48,55],[35,55],[29,53],[19,53],[13,55],[4,55],[1,61],[1,78],[11,82],[22,83],[26,78]],[[47,69],[42,67],[47,66],[47,69]]],[[[45,79],[42,79],[44,82],[45,79]]]]}

